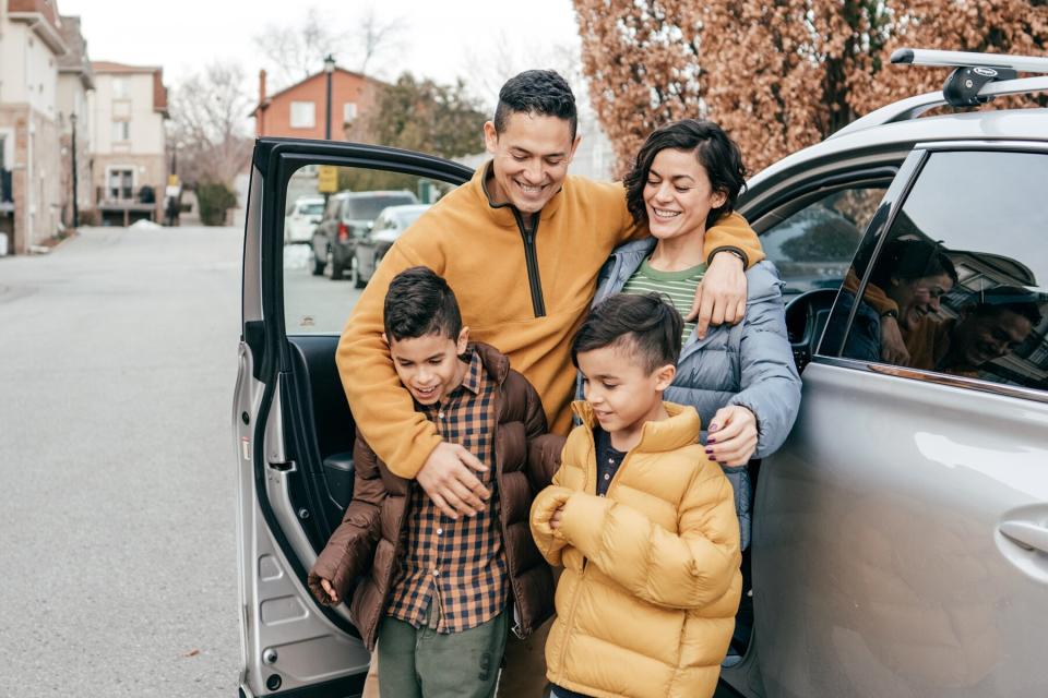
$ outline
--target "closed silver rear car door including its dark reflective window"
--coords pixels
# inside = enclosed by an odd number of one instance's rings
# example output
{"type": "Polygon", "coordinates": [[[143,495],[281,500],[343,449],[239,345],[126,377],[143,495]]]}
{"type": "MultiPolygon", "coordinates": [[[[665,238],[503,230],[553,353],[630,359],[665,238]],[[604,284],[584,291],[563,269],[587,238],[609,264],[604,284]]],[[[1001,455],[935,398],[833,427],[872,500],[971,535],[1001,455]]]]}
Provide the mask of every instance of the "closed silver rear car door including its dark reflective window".
{"type": "Polygon", "coordinates": [[[874,216],[761,470],[765,695],[1048,691],[1046,180],[1036,146],[928,147],[874,216]]]}

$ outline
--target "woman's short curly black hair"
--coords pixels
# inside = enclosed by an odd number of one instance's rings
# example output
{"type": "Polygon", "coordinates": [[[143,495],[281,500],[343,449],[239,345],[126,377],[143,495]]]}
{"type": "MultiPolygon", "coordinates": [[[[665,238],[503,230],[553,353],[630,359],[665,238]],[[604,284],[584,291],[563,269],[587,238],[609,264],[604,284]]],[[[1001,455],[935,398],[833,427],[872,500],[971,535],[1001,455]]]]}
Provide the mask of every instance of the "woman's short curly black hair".
{"type": "Polygon", "coordinates": [[[724,205],[710,210],[706,228],[713,226],[724,214],[735,210],[739,192],[746,186],[746,166],[742,165],[739,146],[713,121],[682,119],[652,131],[636,153],[633,169],[622,180],[626,185],[626,205],[634,221],[647,222],[644,185],[647,184],[655,156],[666,148],[693,152],[710,176],[713,191],[727,195],[724,205]]]}

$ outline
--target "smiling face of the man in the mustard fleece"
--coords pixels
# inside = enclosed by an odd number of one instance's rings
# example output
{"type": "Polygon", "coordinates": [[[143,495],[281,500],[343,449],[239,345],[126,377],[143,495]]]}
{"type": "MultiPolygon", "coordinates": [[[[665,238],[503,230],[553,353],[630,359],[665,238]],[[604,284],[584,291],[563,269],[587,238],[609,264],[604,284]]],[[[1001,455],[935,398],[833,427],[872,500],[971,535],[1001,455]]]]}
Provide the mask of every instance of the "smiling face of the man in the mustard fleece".
{"type": "Polygon", "coordinates": [[[493,157],[495,182],[489,193],[495,203],[511,203],[521,213],[543,209],[560,191],[580,136],[571,137],[571,122],[559,117],[514,111],[505,130],[495,122],[484,124],[484,142],[493,157]]]}

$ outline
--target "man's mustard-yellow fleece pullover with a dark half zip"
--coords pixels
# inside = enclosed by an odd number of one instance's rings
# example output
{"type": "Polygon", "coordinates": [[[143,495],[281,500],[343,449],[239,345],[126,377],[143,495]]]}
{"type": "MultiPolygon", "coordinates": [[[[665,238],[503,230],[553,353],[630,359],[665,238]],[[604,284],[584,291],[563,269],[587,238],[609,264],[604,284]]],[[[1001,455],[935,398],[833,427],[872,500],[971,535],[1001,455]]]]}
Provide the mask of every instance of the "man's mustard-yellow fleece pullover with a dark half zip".
{"type": "MultiPolygon", "coordinates": [[[[357,429],[389,465],[414,478],[440,443],[434,425],[414,409],[390,359],[382,309],[390,281],[413,266],[446,279],[469,336],[497,347],[535,386],[550,429],[567,434],[575,371],[571,339],[596,290],[597,273],[617,245],[647,234],[626,207],[621,183],[569,177],[532,231],[519,212],[492,204],[490,164],[427,210],[390,249],[357,301],[335,353],[357,429]]],[[[748,264],[764,254],[737,215],[706,231],[705,249],[734,248],[748,264]]]]}

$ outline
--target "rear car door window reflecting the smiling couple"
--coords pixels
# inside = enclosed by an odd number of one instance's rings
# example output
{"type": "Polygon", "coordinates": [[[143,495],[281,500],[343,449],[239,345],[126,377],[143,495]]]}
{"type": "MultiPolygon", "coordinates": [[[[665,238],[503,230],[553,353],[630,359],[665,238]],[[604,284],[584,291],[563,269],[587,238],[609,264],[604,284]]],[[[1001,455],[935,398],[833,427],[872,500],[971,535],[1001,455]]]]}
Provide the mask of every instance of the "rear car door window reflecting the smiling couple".
{"type": "Polygon", "coordinates": [[[1046,182],[1045,154],[931,154],[872,264],[857,255],[823,346],[855,306],[844,357],[1048,388],[1046,182]]]}

